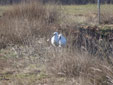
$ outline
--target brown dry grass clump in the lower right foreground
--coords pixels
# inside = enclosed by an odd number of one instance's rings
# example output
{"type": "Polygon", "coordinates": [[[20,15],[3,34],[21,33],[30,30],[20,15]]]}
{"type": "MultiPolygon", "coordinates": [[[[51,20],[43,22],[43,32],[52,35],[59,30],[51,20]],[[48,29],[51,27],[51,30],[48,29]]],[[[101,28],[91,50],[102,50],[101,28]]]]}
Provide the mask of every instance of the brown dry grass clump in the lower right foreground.
{"type": "Polygon", "coordinates": [[[53,52],[48,65],[50,74],[74,78],[73,84],[77,84],[77,81],[80,85],[112,84],[112,65],[106,59],[101,61],[84,53],[60,49],[53,52]]]}

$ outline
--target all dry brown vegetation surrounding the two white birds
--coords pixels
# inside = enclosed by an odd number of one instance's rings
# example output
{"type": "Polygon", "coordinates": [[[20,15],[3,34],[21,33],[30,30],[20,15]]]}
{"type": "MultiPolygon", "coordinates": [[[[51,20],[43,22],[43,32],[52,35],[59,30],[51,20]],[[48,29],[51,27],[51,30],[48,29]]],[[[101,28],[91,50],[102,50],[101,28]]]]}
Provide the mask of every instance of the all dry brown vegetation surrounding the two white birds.
{"type": "Polygon", "coordinates": [[[57,5],[36,2],[13,5],[3,14],[1,85],[113,84],[113,31],[78,26],[66,17],[57,5]],[[54,31],[66,36],[65,48],[47,41],[54,31]]]}

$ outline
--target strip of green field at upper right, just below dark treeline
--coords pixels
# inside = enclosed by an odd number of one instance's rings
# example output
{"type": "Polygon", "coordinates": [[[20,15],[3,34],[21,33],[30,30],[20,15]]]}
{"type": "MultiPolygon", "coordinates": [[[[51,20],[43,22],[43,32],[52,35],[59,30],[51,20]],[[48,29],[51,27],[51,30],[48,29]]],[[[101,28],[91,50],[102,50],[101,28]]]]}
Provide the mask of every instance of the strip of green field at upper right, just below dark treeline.
{"type": "MultiPolygon", "coordinates": [[[[97,4],[87,4],[87,5],[63,5],[62,6],[65,12],[69,14],[88,14],[88,13],[97,13],[98,8],[97,4]]],[[[103,11],[112,11],[113,5],[101,5],[101,12],[103,11]]],[[[113,12],[113,11],[112,11],[113,12]]]]}

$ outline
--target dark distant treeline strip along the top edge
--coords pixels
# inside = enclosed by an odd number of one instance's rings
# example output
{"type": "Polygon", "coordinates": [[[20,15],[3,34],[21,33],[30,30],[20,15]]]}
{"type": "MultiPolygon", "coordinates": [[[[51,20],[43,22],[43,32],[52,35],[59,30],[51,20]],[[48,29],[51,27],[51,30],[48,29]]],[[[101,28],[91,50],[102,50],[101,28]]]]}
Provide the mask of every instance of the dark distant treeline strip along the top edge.
{"type": "MultiPolygon", "coordinates": [[[[13,4],[19,3],[21,1],[41,1],[43,3],[47,2],[59,2],[61,4],[88,4],[88,3],[97,3],[98,0],[0,0],[0,4],[13,4]]],[[[100,0],[101,3],[112,3],[113,0],[100,0]]]]}

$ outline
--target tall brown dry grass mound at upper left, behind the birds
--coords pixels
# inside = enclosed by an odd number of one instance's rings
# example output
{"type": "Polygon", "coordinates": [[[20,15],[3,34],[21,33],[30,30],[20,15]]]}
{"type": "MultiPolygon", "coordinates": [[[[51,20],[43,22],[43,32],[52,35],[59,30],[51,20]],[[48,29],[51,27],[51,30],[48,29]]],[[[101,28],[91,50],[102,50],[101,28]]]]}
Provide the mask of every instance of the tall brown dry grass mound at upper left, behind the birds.
{"type": "Polygon", "coordinates": [[[1,39],[1,43],[23,44],[32,37],[46,36],[51,32],[48,30],[55,30],[54,25],[59,22],[60,12],[57,13],[57,10],[35,2],[14,5],[0,21],[0,35],[6,38],[1,39]]]}

